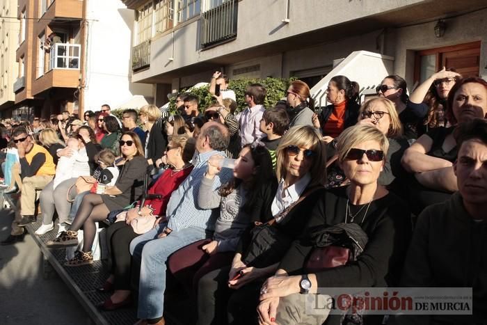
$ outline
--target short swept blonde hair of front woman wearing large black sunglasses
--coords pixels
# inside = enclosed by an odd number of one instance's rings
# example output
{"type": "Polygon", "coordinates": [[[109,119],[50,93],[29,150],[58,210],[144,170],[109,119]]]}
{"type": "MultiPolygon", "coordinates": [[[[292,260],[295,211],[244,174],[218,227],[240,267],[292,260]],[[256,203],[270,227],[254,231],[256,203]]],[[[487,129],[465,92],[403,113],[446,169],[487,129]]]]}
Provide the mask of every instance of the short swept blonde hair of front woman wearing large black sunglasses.
{"type": "Polygon", "coordinates": [[[379,129],[372,125],[354,125],[348,127],[337,138],[337,155],[338,161],[345,160],[351,148],[355,148],[360,143],[366,141],[377,141],[385,156],[388,154],[389,141],[388,138],[379,129]]]}

